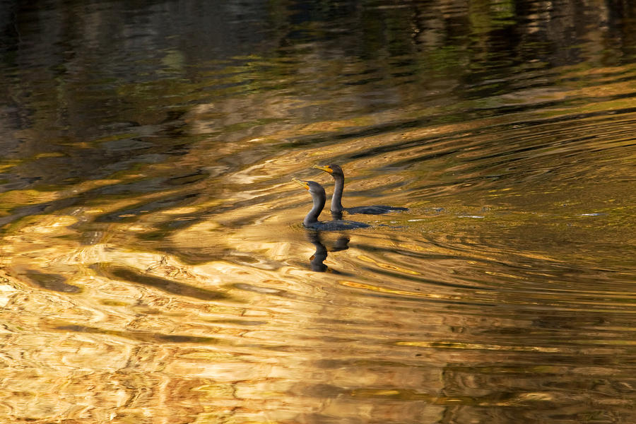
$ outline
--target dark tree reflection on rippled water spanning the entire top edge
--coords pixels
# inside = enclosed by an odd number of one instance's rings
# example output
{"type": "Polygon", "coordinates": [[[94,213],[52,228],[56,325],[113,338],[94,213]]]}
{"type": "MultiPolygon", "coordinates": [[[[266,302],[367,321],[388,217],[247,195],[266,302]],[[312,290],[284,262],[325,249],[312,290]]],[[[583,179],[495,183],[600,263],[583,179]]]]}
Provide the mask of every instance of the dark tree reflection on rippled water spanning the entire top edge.
{"type": "Polygon", "coordinates": [[[23,170],[35,174],[30,175],[35,180],[20,184],[25,187],[42,177],[38,168],[47,169],[49,178],[56,175],[52,170],[65,170],[49,183],[73,182],[156,161],[135,143],[139,139],[153,139],[145,147],[170,157],[172,141],[164,144],[157,136],[187,134],[180,118],[189,107],[179,102],[214,102],[211,124],[235,126],[230,132],[236,136],[230,138],[238,140],[259,126],[258,119],[332,119],[329,103],[341,96],[351,98],[350,109],[359,111],[416,104],[440,90],[440,83],[453,87],[450,98],[457,100],[501,93],[514,89],[508,81],[519,67],[590,58],[620,61],[633,54],[636,34],[635,6],[626,0],[442,1],[404,7],[316,1],[220,8],[205,1],[172,1],[108,8],[61,3],[53,9],[6,1],[4,6],[1,66],[10,78],[0,83],[8,107],[2,124],[13,137],[1,147],[17,158],[63,156],[40,158],[23,170]],[[308,48],[298,52],[295,45],[308,48]],[[257,57],[235,59],[254,52],[298,60],[259,66],[257,57]],[[290,78],[299,72],[308,77],[290,78]],[[324,85],[314,83],[323,78],[324,85]],[[503,81],[492,83],[495,78],[503,81]],[[476,92],[483,81],[491,82],[483,93],[476,92]],[[294,93],[297,84],[302,89],[294,93]],[[328,103],[286,110],[254,95],[277,85],[293,94],[290,103],[303,90],[328,103]],[[232,86],[245,90],[232,91],[232,86]],[[202,88],[213,90],[206,94],[202,88]],[[224,98],[214,98],[215,93],[224,98]],[[267,106],[248,118],[241,112],[248,105],[267,106]],[[105,136],[121,139],[122,147],[103,145],[105,136]]]}

